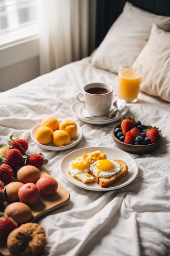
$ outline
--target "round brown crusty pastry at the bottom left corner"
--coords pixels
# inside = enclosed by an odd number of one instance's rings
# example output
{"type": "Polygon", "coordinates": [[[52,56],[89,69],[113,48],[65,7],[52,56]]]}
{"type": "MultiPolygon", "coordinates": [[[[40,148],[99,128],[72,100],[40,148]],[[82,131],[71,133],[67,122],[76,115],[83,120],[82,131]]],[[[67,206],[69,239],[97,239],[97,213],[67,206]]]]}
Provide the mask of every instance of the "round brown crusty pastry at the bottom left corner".
{"type": "Polygon", "coordinates": [[[7,248],[13,256],[39,256],[45,247],[46,234],[37,223],[24,223],[13,229],[7,238],[7,248]]]}

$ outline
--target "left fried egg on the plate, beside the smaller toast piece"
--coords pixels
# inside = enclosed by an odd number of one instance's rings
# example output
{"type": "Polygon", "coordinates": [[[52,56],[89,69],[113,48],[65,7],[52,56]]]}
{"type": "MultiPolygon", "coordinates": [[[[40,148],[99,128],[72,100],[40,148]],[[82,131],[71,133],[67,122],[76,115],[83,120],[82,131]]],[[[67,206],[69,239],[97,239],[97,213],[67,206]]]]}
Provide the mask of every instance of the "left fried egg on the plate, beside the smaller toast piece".
{"type": "Polygon", "coordinates": [[[88,160],[83,157],[77,157],[68,164],[68,172],[71,176],[75,176],[79,173],[88,173],[90,164],[88,160]]]}

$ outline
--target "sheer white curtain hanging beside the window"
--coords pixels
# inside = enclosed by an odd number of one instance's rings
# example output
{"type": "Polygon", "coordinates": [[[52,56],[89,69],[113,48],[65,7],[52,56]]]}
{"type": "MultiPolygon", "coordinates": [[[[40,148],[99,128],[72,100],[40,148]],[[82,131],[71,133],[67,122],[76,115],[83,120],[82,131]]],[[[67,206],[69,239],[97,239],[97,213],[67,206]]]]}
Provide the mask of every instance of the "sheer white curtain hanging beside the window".
{"type": "Polygon", "coordinates": [[[40,73],[88,56],[90,0],[40,1],[40,73]]]}

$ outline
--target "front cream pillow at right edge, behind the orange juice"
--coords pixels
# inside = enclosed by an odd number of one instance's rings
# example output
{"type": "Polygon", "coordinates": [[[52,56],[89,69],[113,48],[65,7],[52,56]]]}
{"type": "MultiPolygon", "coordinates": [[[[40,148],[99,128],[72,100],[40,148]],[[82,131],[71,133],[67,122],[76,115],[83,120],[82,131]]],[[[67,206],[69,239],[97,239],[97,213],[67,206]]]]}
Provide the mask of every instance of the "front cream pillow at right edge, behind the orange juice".
{"type": "Polygon", "coordinates": [[[170,33],[153,24],[136,61],[143,65],[140,90],[170,102],[170,33]]]}

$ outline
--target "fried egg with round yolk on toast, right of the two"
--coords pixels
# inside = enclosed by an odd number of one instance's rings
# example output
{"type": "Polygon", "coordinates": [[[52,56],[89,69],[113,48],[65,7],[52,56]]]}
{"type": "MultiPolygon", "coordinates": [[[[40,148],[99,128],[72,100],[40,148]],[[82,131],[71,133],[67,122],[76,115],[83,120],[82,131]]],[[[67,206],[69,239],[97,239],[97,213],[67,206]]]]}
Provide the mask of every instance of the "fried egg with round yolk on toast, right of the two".
{"type": "Polygon", "coordinates": [[[91,165],[90,171],[96,177],[106,178],[118,173],[120,171],[120,164],[112,159],[101,159],[91,165]]]}

